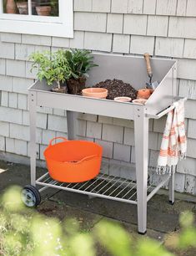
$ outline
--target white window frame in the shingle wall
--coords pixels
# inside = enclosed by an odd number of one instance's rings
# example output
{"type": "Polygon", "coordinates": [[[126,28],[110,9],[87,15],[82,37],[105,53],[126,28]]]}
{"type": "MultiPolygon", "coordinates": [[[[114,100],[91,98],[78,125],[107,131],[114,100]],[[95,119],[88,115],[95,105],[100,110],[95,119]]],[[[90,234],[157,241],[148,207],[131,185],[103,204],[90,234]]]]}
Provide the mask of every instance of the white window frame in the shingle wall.
{"type": "Polygon", "coordinates": [[[73,0],[58,0],[58,17],[31,15],[32,0],[28,1],[28,15],[21,15],[3,13],[0,0],[0,32],[73,38],[73,0]]]}

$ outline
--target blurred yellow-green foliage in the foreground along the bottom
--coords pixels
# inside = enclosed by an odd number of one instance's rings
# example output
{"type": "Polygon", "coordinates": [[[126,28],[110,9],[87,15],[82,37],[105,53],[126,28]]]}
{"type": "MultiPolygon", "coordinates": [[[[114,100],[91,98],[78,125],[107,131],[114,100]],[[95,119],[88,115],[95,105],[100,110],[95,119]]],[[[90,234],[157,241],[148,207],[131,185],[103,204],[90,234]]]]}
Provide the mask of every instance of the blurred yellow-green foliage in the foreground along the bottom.
{"type": "Polygon", "coordinates": [[[181,232],[170,234],[165,245],[141,236],[135,239],[117,223],[106,221],[81,232],[73,219],[60,222],[24,207],[21,188],[11,187],[0,198],[0,255],[95,256],[101,247],[113,256],[171,256],[175,254],[166,247],[196,248],[193,214],[183,212],[179,222],[181,232]]]}

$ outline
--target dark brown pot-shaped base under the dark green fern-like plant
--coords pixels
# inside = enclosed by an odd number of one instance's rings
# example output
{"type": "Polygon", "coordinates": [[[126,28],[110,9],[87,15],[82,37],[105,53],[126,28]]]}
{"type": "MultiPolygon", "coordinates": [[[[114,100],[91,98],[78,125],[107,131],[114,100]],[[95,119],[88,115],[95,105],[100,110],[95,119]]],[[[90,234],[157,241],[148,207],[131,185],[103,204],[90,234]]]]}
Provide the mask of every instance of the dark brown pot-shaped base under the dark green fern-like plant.
{"type": "Polygon", "coordinates": [[[78,79],[68,79],[68,93],[70,95],[79,95],[82,90],[85,88],[86,78],[79,77],[78,79]]]}

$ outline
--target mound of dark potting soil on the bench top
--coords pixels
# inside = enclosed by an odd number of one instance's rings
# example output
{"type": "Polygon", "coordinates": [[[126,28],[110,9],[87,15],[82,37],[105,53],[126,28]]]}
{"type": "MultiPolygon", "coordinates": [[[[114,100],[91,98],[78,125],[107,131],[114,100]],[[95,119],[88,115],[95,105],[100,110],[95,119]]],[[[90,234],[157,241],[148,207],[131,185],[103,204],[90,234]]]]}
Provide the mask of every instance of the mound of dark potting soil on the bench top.
{"type": "Polygon", "coordinates": [[[108,100],[113,100],[115,97],[126,96],[132,100],[137,98],[137,90],[135,90],[131,84],[123,83],[118,79],[107,79],[103,82],[95,84],[93,87],[104,88],[108,90],[108,100]]]}

